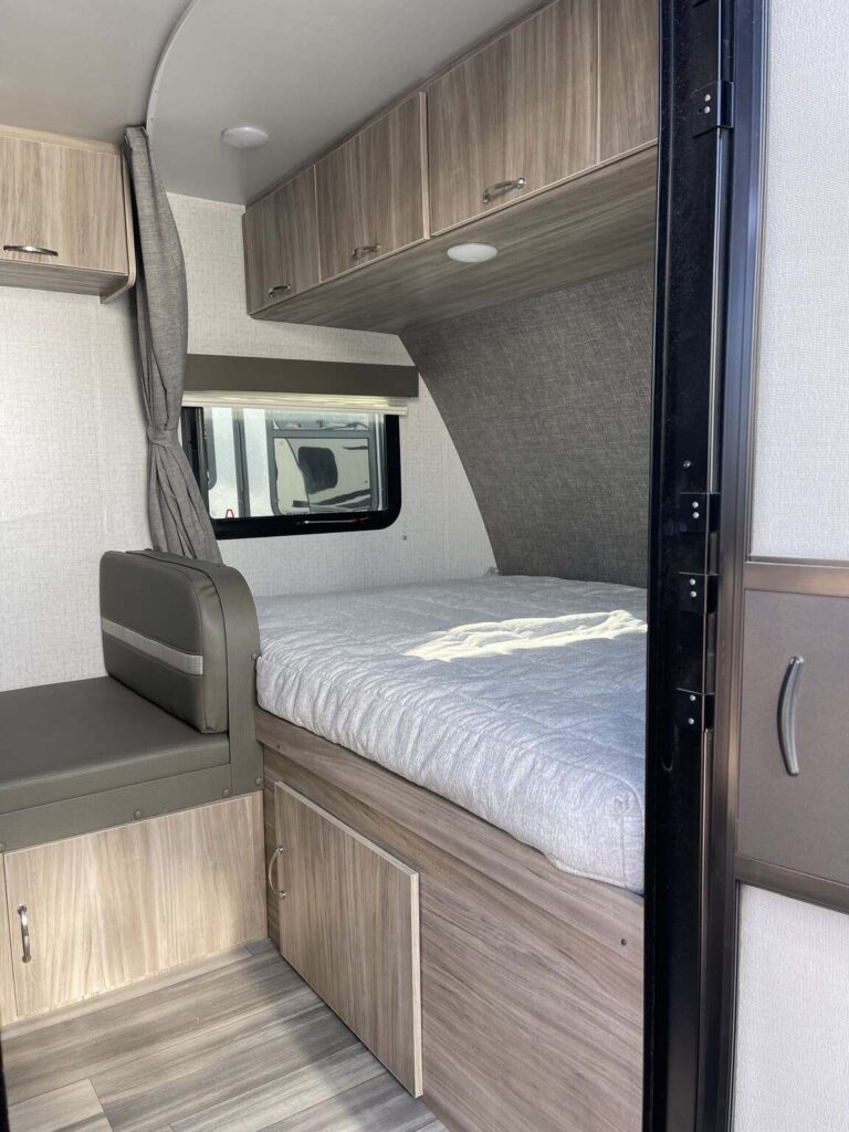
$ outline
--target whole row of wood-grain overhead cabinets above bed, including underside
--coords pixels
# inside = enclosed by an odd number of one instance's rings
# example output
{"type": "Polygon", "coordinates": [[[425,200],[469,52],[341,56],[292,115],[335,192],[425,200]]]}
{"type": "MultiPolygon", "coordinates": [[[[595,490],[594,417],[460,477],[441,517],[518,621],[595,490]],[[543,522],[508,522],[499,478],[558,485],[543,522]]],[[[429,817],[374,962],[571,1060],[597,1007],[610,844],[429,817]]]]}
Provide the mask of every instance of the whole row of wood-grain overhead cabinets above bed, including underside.
{"type": "Polygon", "coordinates": [[[249,312],[397,332],[648,263],[657,88],[655,0],[554,0],[299,174],[315,213],[291,198],[276,231],[315,223],[318,278],[258,266],[286,185],[248,208],[249,312]],[[470,267],[457,243],[497,255],[470,267]]]}

